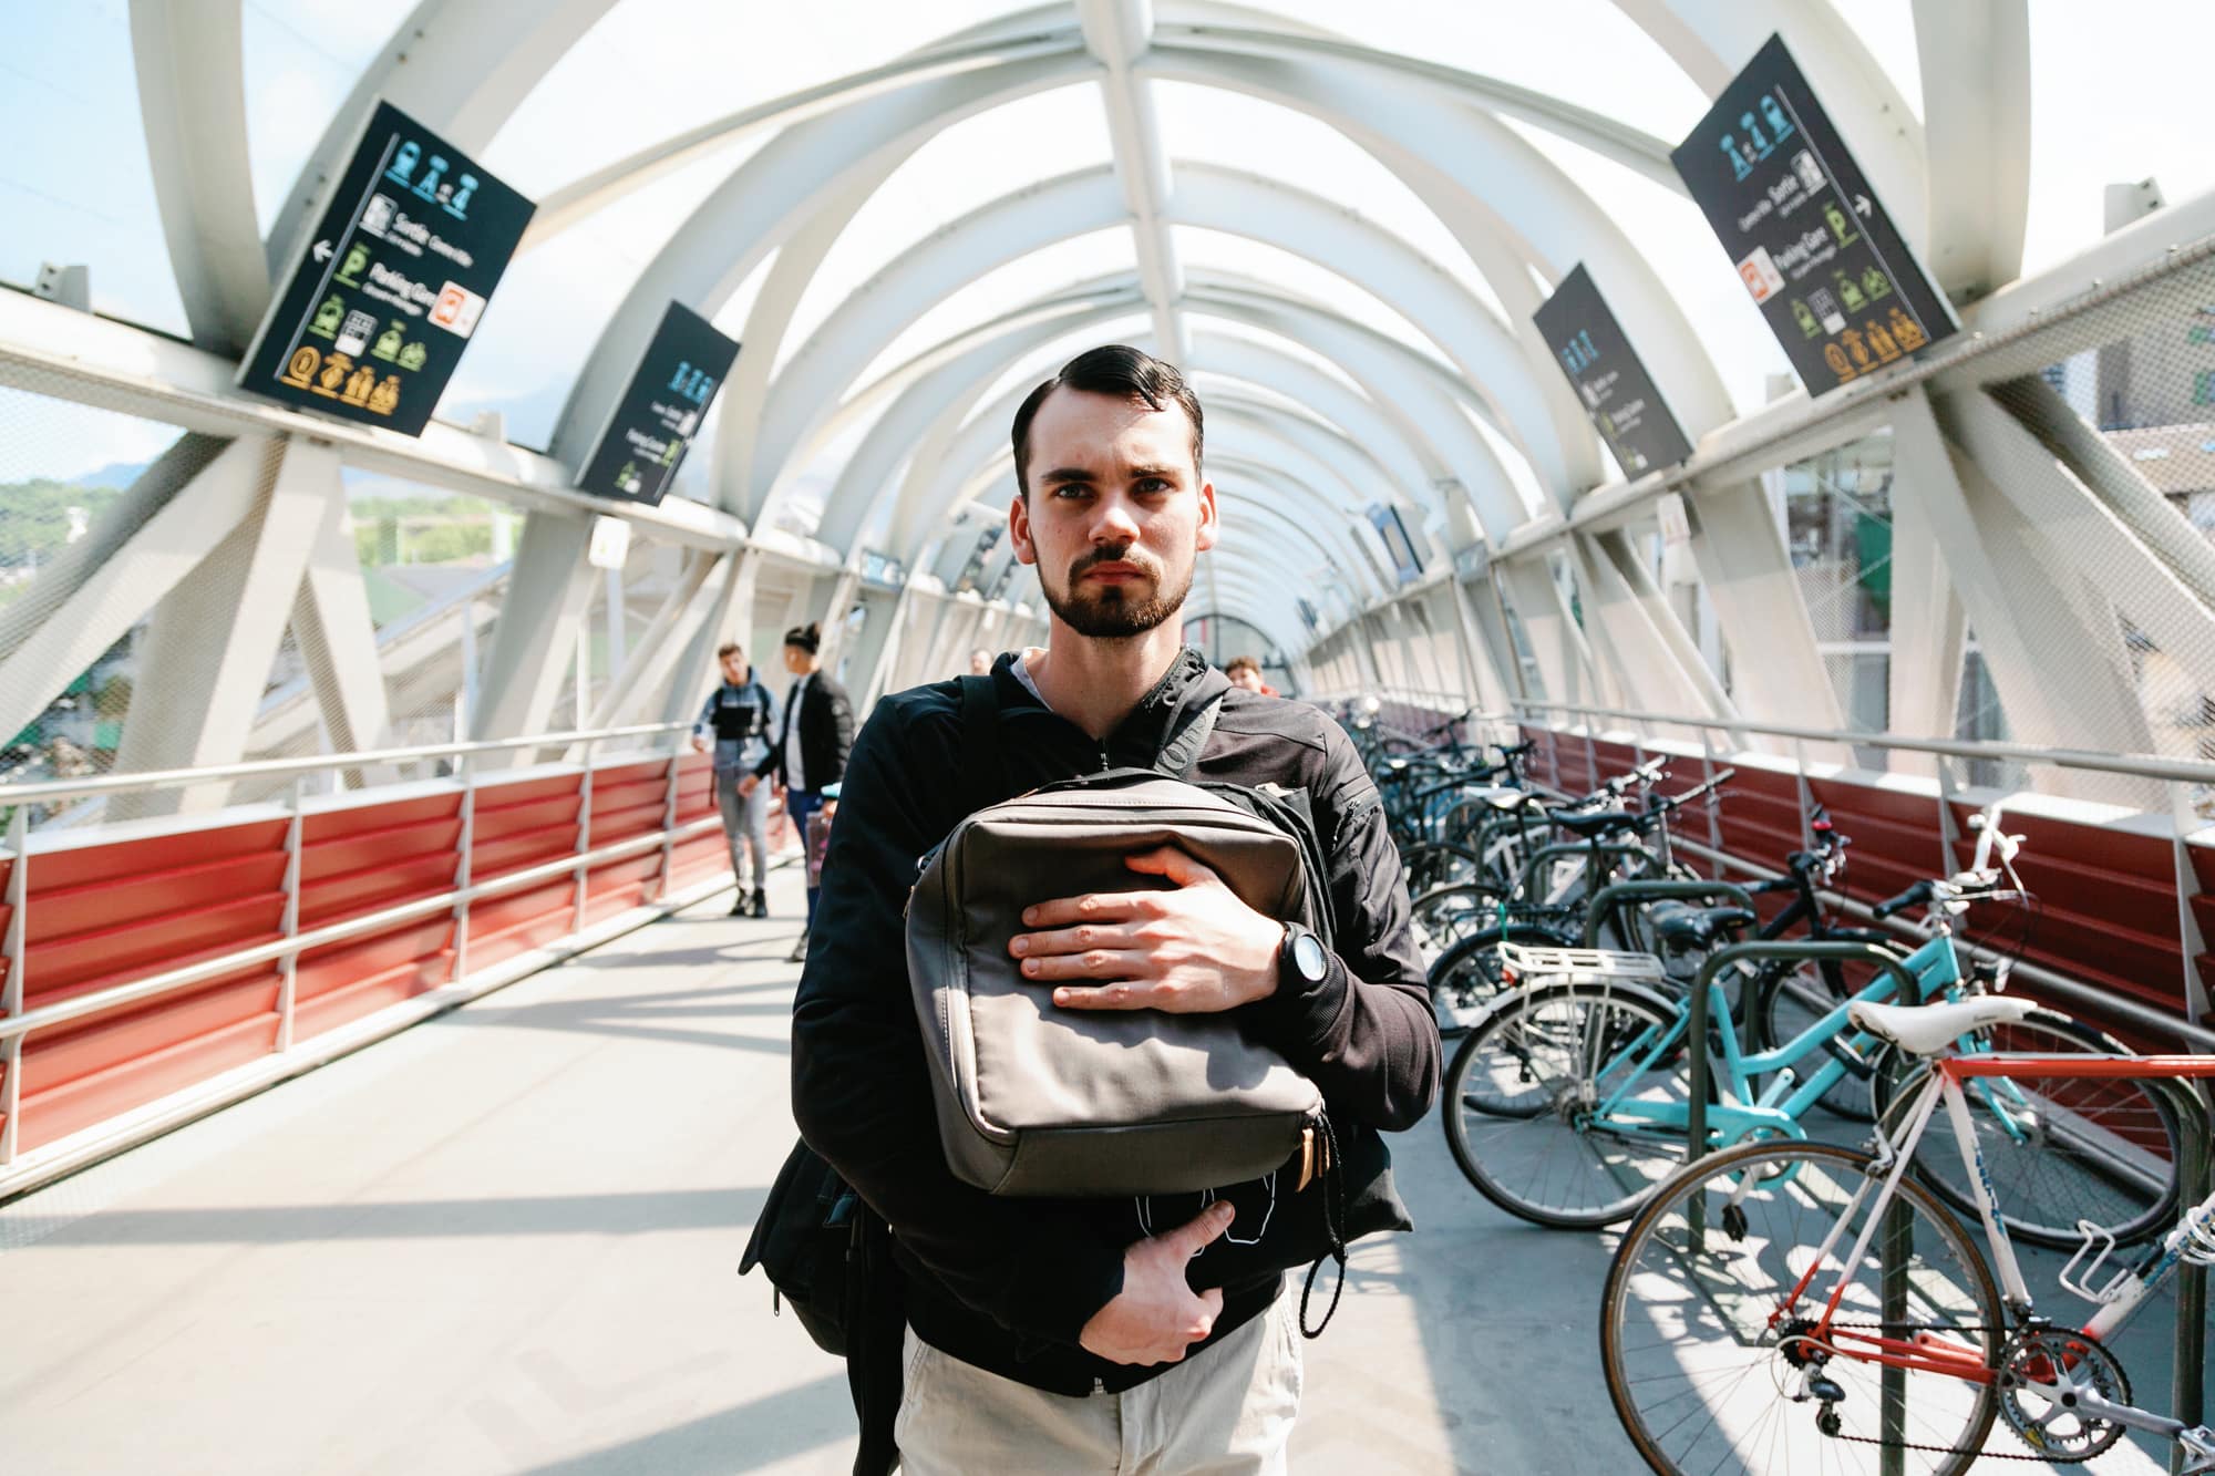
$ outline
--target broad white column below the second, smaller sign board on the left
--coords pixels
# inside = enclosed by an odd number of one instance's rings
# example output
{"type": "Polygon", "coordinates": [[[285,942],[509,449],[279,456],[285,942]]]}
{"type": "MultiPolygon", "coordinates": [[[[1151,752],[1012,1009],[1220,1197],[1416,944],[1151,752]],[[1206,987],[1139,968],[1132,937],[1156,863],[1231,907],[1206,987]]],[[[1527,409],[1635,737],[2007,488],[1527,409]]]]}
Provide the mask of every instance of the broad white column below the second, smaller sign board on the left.
{"type": "MultiPolygon", "coordinates": [[[[583,516],[534,512],[523,521],[472,714],[474,738],[521,738],[554,722],[554,698],[576,663],[576,640],[598,583],[585,561],[589,536],[591,521],[583,516]]],[[[523,767],[534,762],[534,749],[494,754],[485,762],[523,767]]]]}

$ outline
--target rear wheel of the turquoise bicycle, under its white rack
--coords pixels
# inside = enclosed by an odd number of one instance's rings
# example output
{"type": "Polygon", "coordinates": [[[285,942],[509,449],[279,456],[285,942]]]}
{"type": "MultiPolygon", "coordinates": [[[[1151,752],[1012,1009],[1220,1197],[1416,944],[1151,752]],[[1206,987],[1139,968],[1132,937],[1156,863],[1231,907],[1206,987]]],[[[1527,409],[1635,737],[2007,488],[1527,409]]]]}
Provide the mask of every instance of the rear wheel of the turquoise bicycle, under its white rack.
{"type": "Polygon", "coordinates": [[[1557,1230],[1628,1219],[1683,1161],[1683,1130],[1639,1106],[1688,1101],[1683,1050],[1641,1070],[1677,1015],[1621,986],[1537,984],[1469,1031],[1446,1068],[1446,1146],[1477,1192],[1557,1230]],[[1628,1086],[1624,1113],[1595,1106],[1628,1086]]]}

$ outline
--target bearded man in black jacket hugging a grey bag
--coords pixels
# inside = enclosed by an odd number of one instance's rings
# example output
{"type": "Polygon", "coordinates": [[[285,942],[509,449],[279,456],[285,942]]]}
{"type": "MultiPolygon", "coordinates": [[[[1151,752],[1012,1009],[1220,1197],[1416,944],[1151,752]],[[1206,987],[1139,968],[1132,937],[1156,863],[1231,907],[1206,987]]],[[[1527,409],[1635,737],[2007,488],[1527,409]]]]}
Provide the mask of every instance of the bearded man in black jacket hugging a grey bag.
{"type": "MultiPolygon", "coordinates": [[[[1198,399],[1134,348],[1079,355],[1017,412],[1014,470],[1008,527],[1052,623],[1043,649],[992,669],[1006,791],[1152,767],[1220,696],[1198,771],[1307,789],[1338,946],[1287,960],[1280,922],[1161,849],[1130,867],[1174,891],[1030,909],[1010,944],[1023,973],[1061,1011],[1238,1011],[1333,1117],[1413,1126],[1438,1088],[1440,1044],[1376,787],[1318,709],[1229,691],[1178,643],[1194,563],[1218,534],[1198,399]]],[[[959,683],[879,703],[846,769],[793,1013],[800,1130],[893,1226],[904,1469],[1282,1472],[1300,1390],[1296,1299],[1280,1299],[1274,1274],[1205,1294],[1185,1279],[1185,1261],[1232,1232],[1227,1201],[1145,1234],[1130,1199],[1003,1199],[946,1168],[902,909],[917,858],[966,809],[959,749],[959,683]]]]}

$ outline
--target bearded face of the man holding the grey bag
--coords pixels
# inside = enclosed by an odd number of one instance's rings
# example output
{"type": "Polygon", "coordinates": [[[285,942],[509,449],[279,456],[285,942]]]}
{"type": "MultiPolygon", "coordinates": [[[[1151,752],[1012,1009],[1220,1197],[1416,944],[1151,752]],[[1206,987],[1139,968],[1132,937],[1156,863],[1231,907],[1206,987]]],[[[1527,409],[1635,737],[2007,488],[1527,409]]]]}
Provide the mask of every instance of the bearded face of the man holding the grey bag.
{"type": "Polygon", "coordinates": [[[1030,421],[1030,496],[1008,510],[1014,556],[1079,636],[1143,636],[1192,592],[1216,545],[1216,490],[1183,408],[1061,388],[1030,421]]]}

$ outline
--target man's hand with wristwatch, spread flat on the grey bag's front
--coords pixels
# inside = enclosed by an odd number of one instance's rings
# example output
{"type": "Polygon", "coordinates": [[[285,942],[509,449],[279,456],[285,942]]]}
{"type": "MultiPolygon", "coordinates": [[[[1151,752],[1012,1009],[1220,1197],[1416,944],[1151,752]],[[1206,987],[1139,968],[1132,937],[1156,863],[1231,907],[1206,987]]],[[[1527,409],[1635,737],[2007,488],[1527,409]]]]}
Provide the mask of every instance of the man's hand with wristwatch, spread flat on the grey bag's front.
{"type": "Polygon", "coordinates": [[[1023,909],[1008,951],[1023,977],[1059,984],[1072,1011],[1234,1011],[1276,993],[1285,924],[1238,900],[1214,871],[1176,847],[1123,862],[1165,875],[1176,891],[1103,891],[1023,909]],[[1068,980],[1068,984],[1063,984],[1068,980]]]}

